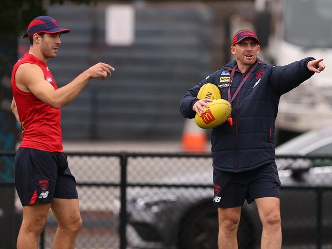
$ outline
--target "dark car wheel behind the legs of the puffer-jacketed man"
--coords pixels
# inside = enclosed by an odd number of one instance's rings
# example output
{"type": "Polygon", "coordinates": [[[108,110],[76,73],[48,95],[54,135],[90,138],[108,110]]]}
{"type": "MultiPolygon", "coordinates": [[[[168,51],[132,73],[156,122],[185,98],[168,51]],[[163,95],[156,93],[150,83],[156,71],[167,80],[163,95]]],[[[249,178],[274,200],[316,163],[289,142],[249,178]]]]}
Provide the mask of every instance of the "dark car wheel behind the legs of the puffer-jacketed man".
{"type": "MultiPolygon", "coordinates": [[[[218,211],[211,203],[204,203],[189,211],[180,227],[178,249],[218,249],[218,211]]],[[[243,213],[238,228],[241,249],[255,246],[253,228],[243,213]]]]}

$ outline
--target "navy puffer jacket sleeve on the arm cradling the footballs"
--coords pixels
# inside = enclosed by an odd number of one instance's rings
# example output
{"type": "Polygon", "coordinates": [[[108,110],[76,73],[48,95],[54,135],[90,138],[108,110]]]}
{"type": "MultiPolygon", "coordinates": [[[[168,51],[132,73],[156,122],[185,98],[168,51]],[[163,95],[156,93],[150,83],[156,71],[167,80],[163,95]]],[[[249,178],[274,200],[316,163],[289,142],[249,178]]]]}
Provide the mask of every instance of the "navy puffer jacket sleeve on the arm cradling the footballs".
{"type": "Polygon", "coordinates": [[[197,94],[199,89],[207,82],[207,80],[201,81],[198,85],[190,89],[181,99],[180,113],[185,118],[194,118],[196,112],[193,111],[194,104],[199,100],[197,94]]]}

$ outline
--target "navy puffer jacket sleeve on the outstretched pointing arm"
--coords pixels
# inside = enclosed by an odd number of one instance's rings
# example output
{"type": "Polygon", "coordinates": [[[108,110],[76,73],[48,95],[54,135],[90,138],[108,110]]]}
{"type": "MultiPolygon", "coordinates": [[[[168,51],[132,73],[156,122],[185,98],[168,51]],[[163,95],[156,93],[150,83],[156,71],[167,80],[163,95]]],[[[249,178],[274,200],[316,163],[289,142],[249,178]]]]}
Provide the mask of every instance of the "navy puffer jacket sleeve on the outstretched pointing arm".
{"type": "Polygon", "coordinates": [[[272,66],[270,82],[273,91],[281,96],[312,77],[314,72],[309,71],[306,66],[312,60],[315,58],[307,57],[286,66],[272,66]]]}

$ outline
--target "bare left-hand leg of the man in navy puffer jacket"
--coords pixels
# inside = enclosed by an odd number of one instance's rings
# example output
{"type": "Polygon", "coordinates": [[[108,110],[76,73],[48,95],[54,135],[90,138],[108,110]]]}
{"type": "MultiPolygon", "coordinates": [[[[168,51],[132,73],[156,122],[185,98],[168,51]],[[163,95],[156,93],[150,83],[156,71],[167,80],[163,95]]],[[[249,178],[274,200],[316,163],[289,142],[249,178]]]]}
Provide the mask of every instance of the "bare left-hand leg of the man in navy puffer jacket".
{"type": "Polygon", "coordinates": [[[236,232],[240,222],[241,207],[218,208],[219,216],[219,249],[237,249],[236,232]]]}

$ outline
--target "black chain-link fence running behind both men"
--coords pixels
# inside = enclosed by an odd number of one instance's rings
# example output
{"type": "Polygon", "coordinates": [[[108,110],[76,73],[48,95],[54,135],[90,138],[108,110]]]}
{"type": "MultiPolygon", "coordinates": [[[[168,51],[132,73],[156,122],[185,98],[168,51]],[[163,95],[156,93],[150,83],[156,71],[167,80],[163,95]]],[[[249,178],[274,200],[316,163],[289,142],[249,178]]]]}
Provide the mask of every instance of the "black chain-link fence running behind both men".
{"type": "MultiPolygon", "coordinates": [[[[76,178],[83,227],[76,248],[217,248],[210,155],[67,153],[76,178]]],[[[14,157],[3,152],[0,157],[14,157]]],[[[332,158],[278,157],[283,248],[332,248],[332,158]]],[[[15,192],[12,182],[2,193],[15,192]]],[[[9,198],[2,194],[0,201],[9,198]]],[[[13,198],[15,248],[21,205],[13,198]]],[[[10,216],[10,217],[9,217],[10,216]]],[[[52,248],[57,222],[50,212],[40,248],[52,248]]],[[[239,248],[259,248],[255,204],[242,208],[239,248]]],[[[1,248],[1,246],[0,246],[1,248]]]]}

